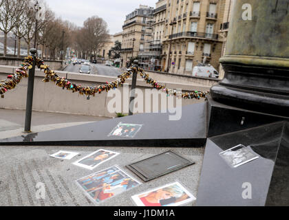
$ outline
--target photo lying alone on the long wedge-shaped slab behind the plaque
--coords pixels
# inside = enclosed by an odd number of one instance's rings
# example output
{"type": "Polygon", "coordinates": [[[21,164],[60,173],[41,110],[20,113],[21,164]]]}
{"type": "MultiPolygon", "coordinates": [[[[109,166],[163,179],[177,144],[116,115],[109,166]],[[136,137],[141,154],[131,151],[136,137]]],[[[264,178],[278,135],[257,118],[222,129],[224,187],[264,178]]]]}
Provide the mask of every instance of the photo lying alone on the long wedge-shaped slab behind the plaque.
{"type": "Polygon", "coordinates": [[[125,124],[120,122],[108,136],[116,137],[135,137],[140,131],[142,124],[125,124]]]}

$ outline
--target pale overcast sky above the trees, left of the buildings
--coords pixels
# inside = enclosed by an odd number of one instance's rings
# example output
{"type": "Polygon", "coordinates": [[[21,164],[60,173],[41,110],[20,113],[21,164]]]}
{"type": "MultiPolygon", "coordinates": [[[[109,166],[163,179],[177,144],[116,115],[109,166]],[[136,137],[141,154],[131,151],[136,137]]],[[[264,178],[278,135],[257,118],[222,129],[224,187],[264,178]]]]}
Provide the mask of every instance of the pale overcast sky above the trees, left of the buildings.
{"type": "Polygon", "coordinates": [[[109,33],[122,31],[125,16],[140,4],[156,7],[158,0],[46,0],[56,16],[78,26],[87,18],[97,15],[107,22],[109,33]]]}

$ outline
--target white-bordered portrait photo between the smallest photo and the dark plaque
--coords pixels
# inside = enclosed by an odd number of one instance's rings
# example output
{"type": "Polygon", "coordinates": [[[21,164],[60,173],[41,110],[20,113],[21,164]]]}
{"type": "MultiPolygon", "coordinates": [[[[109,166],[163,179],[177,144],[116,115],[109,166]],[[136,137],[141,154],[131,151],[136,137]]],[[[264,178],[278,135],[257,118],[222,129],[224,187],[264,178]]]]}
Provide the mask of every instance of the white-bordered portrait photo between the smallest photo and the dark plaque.
{"type": "Polygon", "coordinates": [[[82,159],[79,159],[77,162],[74,162],[74,165],[93,170],[96,166],[99,166],[103,162],[107,162],[109,159],[112,159],[119,155],[119,153],[107,150],[98,150],[82,159]]]}

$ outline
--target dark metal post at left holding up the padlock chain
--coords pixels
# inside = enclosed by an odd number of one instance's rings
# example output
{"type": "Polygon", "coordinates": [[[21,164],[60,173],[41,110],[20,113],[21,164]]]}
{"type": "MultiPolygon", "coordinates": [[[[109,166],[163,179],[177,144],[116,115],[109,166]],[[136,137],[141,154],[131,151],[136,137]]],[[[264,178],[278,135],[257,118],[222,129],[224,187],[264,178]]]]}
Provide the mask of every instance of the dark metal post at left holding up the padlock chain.
{"type": "Polygon", "coordinates": [[[35,64],[36,64],[36,53],[37,50],[32,48],[30,53],[33,58],[32,69],[29,70],[28,77],[28,89],[27,89],[27,98],[26,98],[26,112],[25,112],[25,133],[31,132],[31,118],[32,118],[32,102],[33,102],[33,92],[34,92],[34,75],[35,75],[35,64]]]}

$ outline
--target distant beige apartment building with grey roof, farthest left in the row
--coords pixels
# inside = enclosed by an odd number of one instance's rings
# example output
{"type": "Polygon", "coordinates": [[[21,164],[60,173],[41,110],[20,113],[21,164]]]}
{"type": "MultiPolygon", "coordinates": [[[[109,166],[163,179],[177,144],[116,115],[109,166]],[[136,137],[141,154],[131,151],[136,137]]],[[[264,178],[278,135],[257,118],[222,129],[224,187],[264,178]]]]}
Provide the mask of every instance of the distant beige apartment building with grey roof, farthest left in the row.
{"type": "Polygon", "coordinates": [[[122,66],[125,66],[130,58],[144,51],[144,43],[150,38],[147,36],[147,26],[152,19],[152,14],[152,7],[140,5],[140,8],[127,15],[122,26],[122,66]]]}

